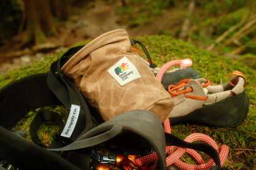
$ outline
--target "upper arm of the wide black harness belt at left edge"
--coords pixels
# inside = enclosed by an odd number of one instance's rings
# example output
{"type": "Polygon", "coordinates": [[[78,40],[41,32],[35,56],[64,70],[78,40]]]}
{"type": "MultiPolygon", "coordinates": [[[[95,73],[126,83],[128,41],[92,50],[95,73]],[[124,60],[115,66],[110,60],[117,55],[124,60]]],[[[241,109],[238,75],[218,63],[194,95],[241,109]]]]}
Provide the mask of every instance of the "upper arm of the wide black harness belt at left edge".
{"type": "Polygon", "coordinates": [[[47,87],[47,75],[47,73],[30,75],[0,89],[1,126],[10,130],[30,110],[62,105],[47,87]]]}

